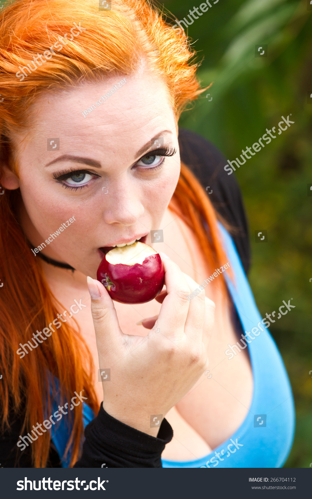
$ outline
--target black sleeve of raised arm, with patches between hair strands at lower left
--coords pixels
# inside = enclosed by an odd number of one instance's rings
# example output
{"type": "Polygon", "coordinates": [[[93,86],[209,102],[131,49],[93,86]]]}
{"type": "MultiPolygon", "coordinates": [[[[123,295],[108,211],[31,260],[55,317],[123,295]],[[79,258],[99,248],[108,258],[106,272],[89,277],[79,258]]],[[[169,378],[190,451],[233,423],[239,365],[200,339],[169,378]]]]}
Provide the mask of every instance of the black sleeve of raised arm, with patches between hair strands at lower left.
{"type": "MultiPolygon", "coordinates": [[[[0,434],[0,466],[31,468],[31,445],[22,452],[16,446],[24,414],[9,417],[9,430],[0,434]]],[[[25,431],[22,435],[25,435],[25,431]]],[[[81,459],[75,468],[161,468],[161,453],[173,437],[173,430],[163,419],[157,437],[140,432],[110,416],[101,404],[99,414],[85,428],[81,459]]],[[[61,468],[60,458],[50,444],[47,468],[61,468]]]]}

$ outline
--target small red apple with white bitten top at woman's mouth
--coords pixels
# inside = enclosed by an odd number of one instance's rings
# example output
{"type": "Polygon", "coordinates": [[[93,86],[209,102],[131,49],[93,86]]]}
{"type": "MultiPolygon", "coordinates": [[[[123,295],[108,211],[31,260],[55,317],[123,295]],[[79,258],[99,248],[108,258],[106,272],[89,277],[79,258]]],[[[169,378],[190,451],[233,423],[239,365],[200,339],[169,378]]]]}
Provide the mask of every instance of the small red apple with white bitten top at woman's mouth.
{"type": "Polygon", "coordinates": [[[108,251],[99,265],[97,279],[115,301],[146,303],[156,298],[163,287],[163,264],[157,251],[137,241],[108,251]]]}

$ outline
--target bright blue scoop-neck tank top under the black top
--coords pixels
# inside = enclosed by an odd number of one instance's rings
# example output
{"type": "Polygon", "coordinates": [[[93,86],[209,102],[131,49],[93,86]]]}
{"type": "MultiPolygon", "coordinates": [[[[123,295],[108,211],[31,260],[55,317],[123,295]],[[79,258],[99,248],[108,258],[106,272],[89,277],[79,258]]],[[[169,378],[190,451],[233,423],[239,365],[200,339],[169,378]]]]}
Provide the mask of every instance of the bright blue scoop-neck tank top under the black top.
{"type": "MultiPolygon", "coordinates": [[[[221,224],[219,229],[223,248],[234,273],[232,282],[225,272],[226,283],[243,330],[249,332],[257,327],[262,317],[232,238],[221,224]]],[[[280,468],[283,466],[294,438],[294,400],[277,346],[268,329],[262,324],[260,326],[263,332],[258,327],[255,339],[249,339],[250,343],[247,343],[254,390],[251,406],[241,426],[207,456],[182,462],[163,459],[163,468],[280,468]]],[[[229,357],[226,362],[228,361],[229,357]]],[[[87,404],[83,405],[84,426],[86,426],[94,418],[94,413],[87,404]]],[[[53,407],[57,410],[57,401],[53,407]]],[[[68,420],[65,418],[66,416],[63,416],[62,420],[51,429],[51,438],[59,456],[64,454],[70,433],[68,420]]],[[[61,461],[63,468],[67,468],[70,452],[67,458],[61,461]]]]}

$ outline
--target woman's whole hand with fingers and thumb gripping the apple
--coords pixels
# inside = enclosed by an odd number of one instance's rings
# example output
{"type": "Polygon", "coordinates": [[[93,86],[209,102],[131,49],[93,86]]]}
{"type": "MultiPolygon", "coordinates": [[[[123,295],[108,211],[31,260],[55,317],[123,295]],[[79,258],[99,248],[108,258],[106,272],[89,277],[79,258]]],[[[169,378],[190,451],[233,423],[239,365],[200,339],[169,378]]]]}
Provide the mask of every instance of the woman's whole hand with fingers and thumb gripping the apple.
{"type": "Polygon", "coordinates": [[[156,298],[162,305],[154,329],[145,337],[122,332],[107,290],[88,277],[99,365],[111,370],[111,380],[102,382],[103,408],[153,436],[160,424],[151,428],[151,416],[164,417],[205,371],[214,320],[214,303],[204,290],[189,300],[199,285],[172,260],[162,260],[166,290],[156,298]]]}

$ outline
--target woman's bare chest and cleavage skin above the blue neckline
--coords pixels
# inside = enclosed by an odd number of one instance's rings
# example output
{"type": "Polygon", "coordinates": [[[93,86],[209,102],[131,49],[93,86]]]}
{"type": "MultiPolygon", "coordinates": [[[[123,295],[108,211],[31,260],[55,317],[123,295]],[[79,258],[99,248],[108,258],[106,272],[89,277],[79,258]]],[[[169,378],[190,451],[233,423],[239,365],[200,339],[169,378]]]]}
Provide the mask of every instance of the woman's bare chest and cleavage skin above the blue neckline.
{"type": "MultiPolygon", "coordinates": [[[[151,246],[165,252],[183,272],[201,284],[214,269],[207,267],[192,231],[169,211],[165,213],[161,226],[163,242],[151,246]]],[[[83,296],[89,297],[87,288],[81,291],[83,296]]],[[[217,279],[213,286],[205,288],[205,292],[216,304],[215,324],[208,345],[209,373],[203,374],[189,394],[166,416],[174,431],[174,438],[163,453],[167,459],[183,461],[208,454],[210,448],[229,437],[241,424],[252,398],[252,371],[247,349],[230,362],[224,353],[228,343],[235,343],[238,337],[217,279]]],[[[68,306],[68,296],[72,294],[67,289],[58,290],[57,297],[64,307],[68,306]]],[[[99,367],[108,366],[99,366],[90,300],[86,299],[84,303],[87,307],[75,318],[94,359],[95,390],[101,402],[103,391],[97,373],[99,367]]],[[[148,330],[136,323],[157,315],[160,306],[155,300],[135,305],[115,302],[121,329],[126,334],[147,335],[148,330]]]]}

